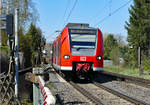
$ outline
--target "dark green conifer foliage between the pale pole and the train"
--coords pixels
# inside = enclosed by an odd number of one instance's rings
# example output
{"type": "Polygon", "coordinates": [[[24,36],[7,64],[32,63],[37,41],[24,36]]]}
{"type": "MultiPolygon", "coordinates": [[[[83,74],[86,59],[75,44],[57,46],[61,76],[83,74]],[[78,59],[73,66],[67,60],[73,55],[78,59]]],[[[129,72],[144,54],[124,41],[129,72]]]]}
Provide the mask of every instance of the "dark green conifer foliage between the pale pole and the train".
{"type": "Polygon", "coordinates": [[[24,52],[25,67],[35,64],[35,58],[38,57],[41,42],[45,43],[44,39],[40,28],[33,24],[30,25],[26,35],[24,35],[22,27],[19,29],[19,51],[24,52]]]}

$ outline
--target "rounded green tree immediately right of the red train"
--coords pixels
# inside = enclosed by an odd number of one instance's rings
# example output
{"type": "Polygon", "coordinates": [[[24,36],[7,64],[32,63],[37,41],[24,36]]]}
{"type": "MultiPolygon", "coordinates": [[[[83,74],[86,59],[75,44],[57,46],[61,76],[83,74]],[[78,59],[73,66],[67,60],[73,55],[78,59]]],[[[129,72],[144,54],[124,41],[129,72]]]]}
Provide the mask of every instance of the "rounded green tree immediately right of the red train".
{"type": "Polygon", "coordinates": [[[110,52],[113,48],[117,47],[117,40],[114,38],[113,34],[108,34],[107,38],[104,40],[104,59],[111,59],[110,52]]]}

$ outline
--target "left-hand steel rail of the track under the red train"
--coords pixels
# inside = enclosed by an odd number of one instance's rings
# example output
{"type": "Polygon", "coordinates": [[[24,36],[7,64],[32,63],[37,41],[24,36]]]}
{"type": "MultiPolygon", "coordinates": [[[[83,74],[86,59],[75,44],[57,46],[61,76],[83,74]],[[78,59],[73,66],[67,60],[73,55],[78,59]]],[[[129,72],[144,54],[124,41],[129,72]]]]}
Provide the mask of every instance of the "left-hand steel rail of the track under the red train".
{"type": "Polygon", "coordinates": [[[97,97],[93,96],[91,93],[80,87],[79,85],[69,82],[75,89],[77,89],[81,94],[83,94],[85,97],[90,99],[92,102],[96,103],[97,105],[106,105],[102,101],[100,101],[97,97]]]}

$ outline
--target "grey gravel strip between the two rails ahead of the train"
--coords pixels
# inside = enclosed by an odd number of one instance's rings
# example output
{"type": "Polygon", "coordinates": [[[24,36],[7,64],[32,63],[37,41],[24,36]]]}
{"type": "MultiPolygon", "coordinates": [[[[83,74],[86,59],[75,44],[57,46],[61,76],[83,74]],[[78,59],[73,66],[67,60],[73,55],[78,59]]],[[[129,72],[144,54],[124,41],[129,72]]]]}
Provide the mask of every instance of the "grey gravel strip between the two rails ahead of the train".
{"type": "Polygon", "coordinates": [[[121,99],[120,97],[117,97],[103,89],[100,89],[99,87],[91,83],[78,85],[88,90],[95,97],[98,97],[100,100],[103,100],[103,102],[107,105],[133,105],[132,103],[127,102],[126,100],[121,99]]]}

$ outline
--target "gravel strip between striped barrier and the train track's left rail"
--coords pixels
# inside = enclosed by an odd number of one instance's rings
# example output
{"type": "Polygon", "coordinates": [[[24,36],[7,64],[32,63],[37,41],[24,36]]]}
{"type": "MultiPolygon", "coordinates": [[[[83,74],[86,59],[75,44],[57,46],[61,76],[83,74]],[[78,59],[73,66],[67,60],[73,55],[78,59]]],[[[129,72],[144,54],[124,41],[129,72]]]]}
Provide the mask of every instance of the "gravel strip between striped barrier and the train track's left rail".
{"type": "Polygon", "coordinates": [[[93,105],[82,94],[75,90],[70,84],[59,80],[56,74],[50,73],[50,88],[53,92],[58,93],[65,105],[93,105]]]}

